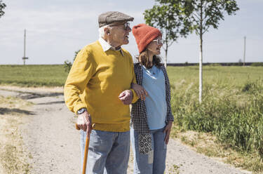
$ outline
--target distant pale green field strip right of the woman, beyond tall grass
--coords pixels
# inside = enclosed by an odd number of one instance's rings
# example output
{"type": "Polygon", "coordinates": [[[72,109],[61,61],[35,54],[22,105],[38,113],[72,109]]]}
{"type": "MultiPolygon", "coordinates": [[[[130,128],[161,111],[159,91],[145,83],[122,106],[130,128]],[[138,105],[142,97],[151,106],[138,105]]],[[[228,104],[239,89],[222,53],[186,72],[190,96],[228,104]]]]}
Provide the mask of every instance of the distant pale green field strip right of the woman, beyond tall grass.
{"type": "MultiPolygon", "coordinates": [[[[263,67],[203,66],[203,84],[217,83],[226,86],[242,86],[246,81],[255,81],[263,75],[263,67]]],[[[168,67],[170,83],[196,83],[199,67],[168,67]]]]}

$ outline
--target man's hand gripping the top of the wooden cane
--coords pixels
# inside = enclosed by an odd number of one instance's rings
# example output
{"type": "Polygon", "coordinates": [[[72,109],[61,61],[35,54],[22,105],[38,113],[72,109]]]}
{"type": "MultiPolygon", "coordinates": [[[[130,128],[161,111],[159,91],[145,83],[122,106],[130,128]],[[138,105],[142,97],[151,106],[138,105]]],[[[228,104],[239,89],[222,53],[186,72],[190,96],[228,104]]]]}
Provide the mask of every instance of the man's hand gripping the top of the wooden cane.
{"type": "Polygon", "coordinates": [[[77,126],[83,131],[87,131],[87,133],[91,133],[91,116],[87,111],[78,115],[78,119],[76,121],[77,126]]]}

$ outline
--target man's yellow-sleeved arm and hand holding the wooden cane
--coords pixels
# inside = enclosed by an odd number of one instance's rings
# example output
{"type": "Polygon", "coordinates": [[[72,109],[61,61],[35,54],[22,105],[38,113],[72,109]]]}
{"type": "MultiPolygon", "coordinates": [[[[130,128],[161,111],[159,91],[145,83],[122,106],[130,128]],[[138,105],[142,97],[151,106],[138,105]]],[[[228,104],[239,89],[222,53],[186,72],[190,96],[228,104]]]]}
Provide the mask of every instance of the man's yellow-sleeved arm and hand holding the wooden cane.
{"type": "Polygon", "coordinates": [[[93,76],[93,60],[90,58],[89,52],[83,48],[76,56],[76,60],[72,65],[72,69],[67,76],[64,94],[65,103],[69,110],[78,114],[77,126],[83,131],[91,131],[91,116],[86,109],[86,104],[81,100],[79,95],[85,90],[88,81],[93,76]],[[78,113],[80,109],[86,109],[82,113],[78,113]]]}

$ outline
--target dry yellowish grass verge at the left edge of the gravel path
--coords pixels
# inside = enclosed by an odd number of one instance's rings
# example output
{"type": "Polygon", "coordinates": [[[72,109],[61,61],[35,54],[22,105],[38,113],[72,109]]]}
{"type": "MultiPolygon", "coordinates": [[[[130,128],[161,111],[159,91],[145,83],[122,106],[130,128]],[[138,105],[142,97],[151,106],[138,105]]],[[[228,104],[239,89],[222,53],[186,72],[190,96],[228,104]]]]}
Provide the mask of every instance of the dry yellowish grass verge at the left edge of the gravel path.
{"type": "MultiPolygon", "coordinates": [[[[32,103],[24,100],[0,95],[0,112],[3,108],[27,109],[32,103]]],[[[19,131],[21,123],[19,112],[0,113],[0,168],[6,174],[29,173],[29,163],[26,152],[22,149],[22,137],[19,131]]]]}

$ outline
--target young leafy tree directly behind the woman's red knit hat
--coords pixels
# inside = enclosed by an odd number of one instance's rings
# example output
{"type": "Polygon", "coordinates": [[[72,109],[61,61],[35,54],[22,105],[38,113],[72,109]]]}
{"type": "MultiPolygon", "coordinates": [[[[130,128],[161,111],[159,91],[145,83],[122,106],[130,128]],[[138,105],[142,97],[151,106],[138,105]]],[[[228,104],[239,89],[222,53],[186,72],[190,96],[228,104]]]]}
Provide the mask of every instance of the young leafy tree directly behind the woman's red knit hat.
{"type": "MultiPolygon", "coordinates": [[[[178,37],[189,34],[189,22],[180,13],[180,0],[156,0],[158,4],[144,11],[144,20],[147,25],[157,27],[163,34],[163,49],[166,52],[165,67],[167,65],[168,47],[178,37]]],[[[181,5],[182,7],[182,5],[181,5]]]]}

